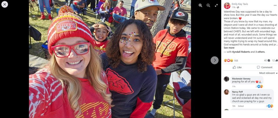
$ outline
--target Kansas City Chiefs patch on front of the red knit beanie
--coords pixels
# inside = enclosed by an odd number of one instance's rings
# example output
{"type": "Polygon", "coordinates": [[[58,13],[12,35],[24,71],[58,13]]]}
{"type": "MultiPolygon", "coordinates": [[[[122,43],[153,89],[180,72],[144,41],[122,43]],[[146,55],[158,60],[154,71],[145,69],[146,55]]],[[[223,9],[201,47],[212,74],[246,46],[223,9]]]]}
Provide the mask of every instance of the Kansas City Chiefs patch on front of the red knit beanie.
{"type": "Polygon", "coordinates": [[[77,30],[77,23],[73,20],[61,20],[56,25],[56,32],[61,33],[64,31],[76,31],[77,30]]]}

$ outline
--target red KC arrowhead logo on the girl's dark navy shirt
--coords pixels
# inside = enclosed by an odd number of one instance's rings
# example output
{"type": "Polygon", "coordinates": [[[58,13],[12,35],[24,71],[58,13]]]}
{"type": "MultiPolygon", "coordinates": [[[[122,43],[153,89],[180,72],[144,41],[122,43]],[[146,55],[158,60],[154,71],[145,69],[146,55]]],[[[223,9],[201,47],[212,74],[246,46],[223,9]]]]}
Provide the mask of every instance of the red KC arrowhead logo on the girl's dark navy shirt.
{"type": "Polygon", "coordinates": [[[108,80],[109,89],[116,91],[121,94],[132,94],[134,91],[129,85],[128,81],[122,76],[119,76],[118,73],[108,68],[106,70],[106,76],[108,80]]]}

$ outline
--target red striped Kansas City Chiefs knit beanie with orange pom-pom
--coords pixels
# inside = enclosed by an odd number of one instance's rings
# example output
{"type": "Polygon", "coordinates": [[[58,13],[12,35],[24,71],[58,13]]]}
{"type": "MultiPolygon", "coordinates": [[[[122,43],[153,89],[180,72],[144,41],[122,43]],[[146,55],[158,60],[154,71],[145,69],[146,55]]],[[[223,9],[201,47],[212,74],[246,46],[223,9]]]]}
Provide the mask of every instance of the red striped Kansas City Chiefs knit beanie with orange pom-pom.
{"type": "Polygon", "coordinates": [[[93,44],[90,29],[83,20],[74,14],[70,6],[63,5],[48,29],[48,51],[52,56],[51,46],[63,38],[81,37],[93,44]]]}

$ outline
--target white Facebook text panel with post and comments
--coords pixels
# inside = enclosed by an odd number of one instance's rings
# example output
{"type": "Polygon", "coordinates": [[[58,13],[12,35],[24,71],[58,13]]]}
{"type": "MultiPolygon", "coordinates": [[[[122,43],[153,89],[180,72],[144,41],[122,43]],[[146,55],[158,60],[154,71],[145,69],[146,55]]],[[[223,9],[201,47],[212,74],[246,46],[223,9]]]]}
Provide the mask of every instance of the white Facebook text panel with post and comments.
{"type": "Polygon", "coordinates": [[[277,5],[221,0],[221,118],[277,117],[277,5]]]}

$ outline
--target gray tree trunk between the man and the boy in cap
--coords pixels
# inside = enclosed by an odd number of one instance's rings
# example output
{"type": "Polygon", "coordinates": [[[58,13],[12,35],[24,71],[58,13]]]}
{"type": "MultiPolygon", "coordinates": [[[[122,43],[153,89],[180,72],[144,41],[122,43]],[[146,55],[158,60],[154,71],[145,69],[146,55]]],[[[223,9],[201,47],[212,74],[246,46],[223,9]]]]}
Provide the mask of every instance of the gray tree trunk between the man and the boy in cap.
{"type": "Polygon", "coordinates": [[[150,30],[153,36],[155,36],[158,31],[163,29],[172,2],[173,0],[158,0],[159,5],[164,6],[165,10],[158,11],[157,20],[155,21],[155,23],[152,26],[152,29],[150,30]]]}

